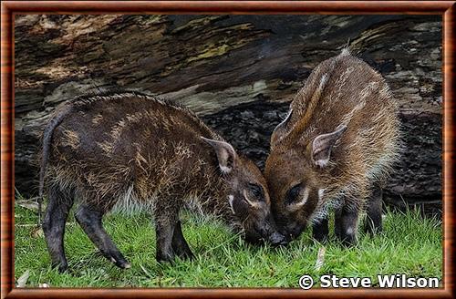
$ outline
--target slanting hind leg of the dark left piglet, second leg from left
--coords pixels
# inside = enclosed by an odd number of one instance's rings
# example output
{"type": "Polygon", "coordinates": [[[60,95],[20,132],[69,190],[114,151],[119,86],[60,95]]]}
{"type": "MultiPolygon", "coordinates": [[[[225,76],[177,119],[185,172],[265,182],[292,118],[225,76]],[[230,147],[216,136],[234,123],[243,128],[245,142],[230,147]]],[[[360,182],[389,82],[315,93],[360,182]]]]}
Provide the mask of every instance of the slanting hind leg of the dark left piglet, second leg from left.
{"type": "Polygon", "coordinates": [[[101,209],[81,204],[75,212],[75,218],[103,256],[119,268],[128,269],[131,267],[103,228],[103,212],[101,209]]]}

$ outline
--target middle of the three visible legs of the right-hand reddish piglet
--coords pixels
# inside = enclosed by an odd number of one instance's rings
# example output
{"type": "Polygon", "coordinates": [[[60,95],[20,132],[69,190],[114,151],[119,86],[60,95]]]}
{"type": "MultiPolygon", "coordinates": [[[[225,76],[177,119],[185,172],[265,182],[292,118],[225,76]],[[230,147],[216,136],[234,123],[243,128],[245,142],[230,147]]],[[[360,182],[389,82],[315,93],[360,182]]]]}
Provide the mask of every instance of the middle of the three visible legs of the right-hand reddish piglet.
{"type": "Polygon", "coordinates": [[[353,204],[344,204],[337,209],[335,215],[335,233],[337,238],[346,246],[357,243],[358,207],[353,204]]]}

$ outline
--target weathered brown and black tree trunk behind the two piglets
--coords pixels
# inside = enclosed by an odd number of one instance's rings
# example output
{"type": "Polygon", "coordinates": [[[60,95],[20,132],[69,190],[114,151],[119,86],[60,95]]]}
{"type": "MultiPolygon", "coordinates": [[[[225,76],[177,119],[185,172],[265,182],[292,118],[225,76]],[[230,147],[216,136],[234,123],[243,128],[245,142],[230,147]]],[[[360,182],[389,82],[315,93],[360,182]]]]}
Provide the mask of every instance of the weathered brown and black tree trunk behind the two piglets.
{"type": "Polygon", "coordinates": [[[263,166],[269,137],[313,67],[350,40],[399,99],[406,149],[387,202],[441,204],[441,17],[16,15],[16,187],[36,193],[49,113],[128,88],[192,108],[263,166]]]}

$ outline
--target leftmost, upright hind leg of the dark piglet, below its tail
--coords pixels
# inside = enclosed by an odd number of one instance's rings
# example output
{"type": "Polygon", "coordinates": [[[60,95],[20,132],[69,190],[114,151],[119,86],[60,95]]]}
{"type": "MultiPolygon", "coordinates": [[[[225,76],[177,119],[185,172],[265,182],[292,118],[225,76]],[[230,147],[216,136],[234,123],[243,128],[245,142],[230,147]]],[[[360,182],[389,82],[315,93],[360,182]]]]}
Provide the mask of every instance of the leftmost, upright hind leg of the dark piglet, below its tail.
{"type": "Polygon", "coordinates": [[[73,201],[73,197],[61,191],[58,186],[49,187],[47,210],[43,220],[43,232],[45,233],[52,267],[58,266],[58,272],[60,273],[67,270],[63,239],[65,223],[73,201]]]}

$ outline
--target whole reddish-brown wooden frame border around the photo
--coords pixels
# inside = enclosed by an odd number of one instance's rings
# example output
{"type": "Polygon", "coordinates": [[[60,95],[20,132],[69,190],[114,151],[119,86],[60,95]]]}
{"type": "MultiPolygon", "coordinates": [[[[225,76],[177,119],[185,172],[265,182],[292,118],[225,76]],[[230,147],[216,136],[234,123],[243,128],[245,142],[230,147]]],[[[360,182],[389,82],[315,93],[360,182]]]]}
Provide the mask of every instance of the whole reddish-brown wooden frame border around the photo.
{"type": "Polygon", "coordinates": [[[1,3],[1,297],[454,297],[454,1],[5,1],[1,3]],[[17,14],[414,14],[443,16],[443,289],[157,288],[18,289],[14,287],[14,16],[17,14]],[[82,291],[82,292],[81,292],[82,291]]]}

